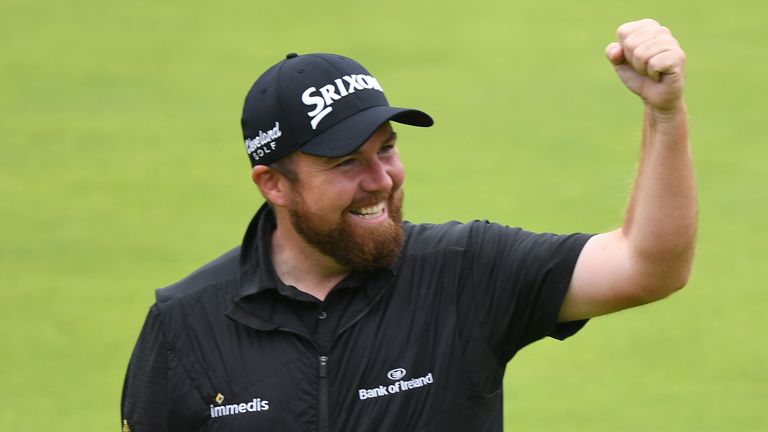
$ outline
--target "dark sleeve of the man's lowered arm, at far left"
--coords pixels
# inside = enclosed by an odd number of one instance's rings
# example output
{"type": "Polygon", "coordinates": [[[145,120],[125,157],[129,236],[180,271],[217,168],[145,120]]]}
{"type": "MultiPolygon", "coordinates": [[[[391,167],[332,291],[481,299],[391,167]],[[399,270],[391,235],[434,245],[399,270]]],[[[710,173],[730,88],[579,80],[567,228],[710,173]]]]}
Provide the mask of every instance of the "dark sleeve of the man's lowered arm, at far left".
{"type": "Polygon", "coordinates": [[[149,310],[125,375],[121,403],[123,431],[168,431],[168,354],[155,305],[149,310]]]}

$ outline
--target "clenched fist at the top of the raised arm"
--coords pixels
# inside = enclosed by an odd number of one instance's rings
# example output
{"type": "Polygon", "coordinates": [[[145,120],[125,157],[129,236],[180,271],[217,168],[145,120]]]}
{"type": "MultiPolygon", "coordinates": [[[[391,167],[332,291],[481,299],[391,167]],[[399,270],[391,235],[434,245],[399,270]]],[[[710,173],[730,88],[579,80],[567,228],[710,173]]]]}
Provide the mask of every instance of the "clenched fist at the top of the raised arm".
{"type": "Polygon", "coordinates": [[[683,105],[685,53],[666,27],[652,19],[629,22],[617,30],[618,42],[605,53],[624,85],[651,111],[673,113],[683,105]]]}

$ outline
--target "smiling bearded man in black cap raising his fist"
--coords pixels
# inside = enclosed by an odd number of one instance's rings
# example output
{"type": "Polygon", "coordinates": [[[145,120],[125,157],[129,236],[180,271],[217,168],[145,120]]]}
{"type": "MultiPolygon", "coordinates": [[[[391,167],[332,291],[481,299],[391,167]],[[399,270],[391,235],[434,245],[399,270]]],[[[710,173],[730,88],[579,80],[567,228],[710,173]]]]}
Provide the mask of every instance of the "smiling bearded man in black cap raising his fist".
{"type": "Polygon", "coordinates": [[[123,430],[499,431],[525,345],[687,282],[695,186],[684,54],[653,20],[606,49],[645,104],[623,226],[594,236],[401,220],[404,170],[379,81],[289,54],[242,126],[267,204],[242,245],[157,292],[123,390],[123,430]]]}

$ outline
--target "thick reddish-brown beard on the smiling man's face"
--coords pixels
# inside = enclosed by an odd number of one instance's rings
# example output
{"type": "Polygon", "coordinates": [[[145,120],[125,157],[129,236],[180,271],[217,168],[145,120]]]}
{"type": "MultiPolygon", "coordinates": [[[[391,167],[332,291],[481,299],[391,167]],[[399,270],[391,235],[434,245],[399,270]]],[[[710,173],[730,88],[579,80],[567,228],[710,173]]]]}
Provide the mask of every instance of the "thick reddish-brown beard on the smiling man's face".
{"type": "Polygon", "coordinates": [[[288,215],[293,228],[308,244],[338,264],[358,271],[391,267],[403,245],[403,190],[369,198],[370,202],[387,198],[389,219],[380,226],[362,228],[344,217],[329,226],[309,211],[301,197],[288,209],[288,215]]]}

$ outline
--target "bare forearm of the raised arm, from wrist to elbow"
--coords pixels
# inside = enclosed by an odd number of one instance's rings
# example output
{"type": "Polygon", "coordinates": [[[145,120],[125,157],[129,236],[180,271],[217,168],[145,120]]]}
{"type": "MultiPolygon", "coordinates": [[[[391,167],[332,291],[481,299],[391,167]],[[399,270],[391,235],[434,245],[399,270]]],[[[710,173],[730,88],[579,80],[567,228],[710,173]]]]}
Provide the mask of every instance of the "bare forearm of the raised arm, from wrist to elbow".
{"type": "Polygon", "coordinates": [[[640,165],[622,233],[649,283],[679,288],[691,268],[697,225],[696,185],[685,105],[645,109],[640,165]]]}

